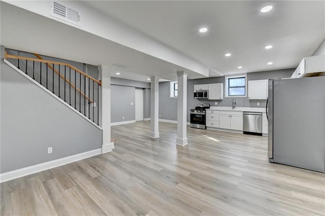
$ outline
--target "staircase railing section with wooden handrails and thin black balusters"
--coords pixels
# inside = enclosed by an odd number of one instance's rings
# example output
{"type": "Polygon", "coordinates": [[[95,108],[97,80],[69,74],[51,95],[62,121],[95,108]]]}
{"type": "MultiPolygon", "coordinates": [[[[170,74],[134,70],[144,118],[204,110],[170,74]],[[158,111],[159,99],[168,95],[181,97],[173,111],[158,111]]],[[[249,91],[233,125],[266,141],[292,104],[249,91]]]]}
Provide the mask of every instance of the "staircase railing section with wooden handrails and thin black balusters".
{"type": "Polygon", "coordinates": [[[59,61],[13,55],[5,51],[5,59],[67,105],[79,111],[99,126],[99,98],[101,80],[76,67],[59,61]]]}

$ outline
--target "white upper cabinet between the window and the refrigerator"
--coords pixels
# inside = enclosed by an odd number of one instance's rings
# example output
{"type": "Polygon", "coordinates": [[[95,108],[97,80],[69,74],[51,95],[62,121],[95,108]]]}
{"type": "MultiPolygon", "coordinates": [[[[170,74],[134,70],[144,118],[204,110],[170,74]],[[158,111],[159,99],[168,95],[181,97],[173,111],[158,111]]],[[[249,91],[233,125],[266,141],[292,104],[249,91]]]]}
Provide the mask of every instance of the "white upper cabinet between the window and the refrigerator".
{"type": "Polygon", "coordinates": [[[248,81],[248,99],[266,100],[268,99],[268,80],[249,80],[248,81]]]}

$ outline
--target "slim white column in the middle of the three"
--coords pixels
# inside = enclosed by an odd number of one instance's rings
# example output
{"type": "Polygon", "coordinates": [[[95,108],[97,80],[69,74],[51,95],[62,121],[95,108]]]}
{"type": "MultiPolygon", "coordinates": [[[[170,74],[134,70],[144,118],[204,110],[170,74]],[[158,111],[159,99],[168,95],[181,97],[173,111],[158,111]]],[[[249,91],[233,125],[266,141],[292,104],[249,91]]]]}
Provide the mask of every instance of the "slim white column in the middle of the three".
{"type": "Polygon", "coordinates": [[[150,93],[150,137],[159,138],[159,82],[158,77],[152,76],[151,79],[151,93],[150,93]]]}

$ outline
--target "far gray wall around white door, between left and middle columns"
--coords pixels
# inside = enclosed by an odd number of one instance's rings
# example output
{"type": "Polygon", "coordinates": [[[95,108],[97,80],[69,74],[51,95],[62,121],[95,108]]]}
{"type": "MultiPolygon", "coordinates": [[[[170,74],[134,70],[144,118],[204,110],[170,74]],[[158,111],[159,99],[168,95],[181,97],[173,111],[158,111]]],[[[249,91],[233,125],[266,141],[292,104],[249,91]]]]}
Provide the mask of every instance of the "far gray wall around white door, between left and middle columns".
{"type": "Polygon", "coordinates": [[[144,89],[143,117],[150,118],[150,83],[111,77],[111,122],[136,119],[136,88],[144,89]]]}

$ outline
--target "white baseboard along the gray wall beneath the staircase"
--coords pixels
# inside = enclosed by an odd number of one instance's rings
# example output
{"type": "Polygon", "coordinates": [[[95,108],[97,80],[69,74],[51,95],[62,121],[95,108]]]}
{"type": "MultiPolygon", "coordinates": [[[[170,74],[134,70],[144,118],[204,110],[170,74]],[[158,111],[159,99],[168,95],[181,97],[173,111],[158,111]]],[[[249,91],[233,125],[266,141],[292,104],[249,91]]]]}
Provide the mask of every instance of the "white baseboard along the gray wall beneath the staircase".
{"type": "Polygon", "coordinates": [[[68,156],[65,158],[60,158],[60,159],[56,159],[53,161],[48,161],[45,163],[32,165],[29,167],[24,167],[21,169],[5,172],[5,173],[0,174],[0,182],[9,181],[9,180],[19,178],[22,176],[30,175],[30,174],[48,170],[48,169],[51,169],[54,167],[69,164],[69,163],[72,163],[75,161],[80,161],[85,158],[90,158],[92,156],[100,155],[101,153],[102,153],[102,148],[97,148],[94,150],[78,153],[77,155],[72,155],[72,156],[68,156]]]}

